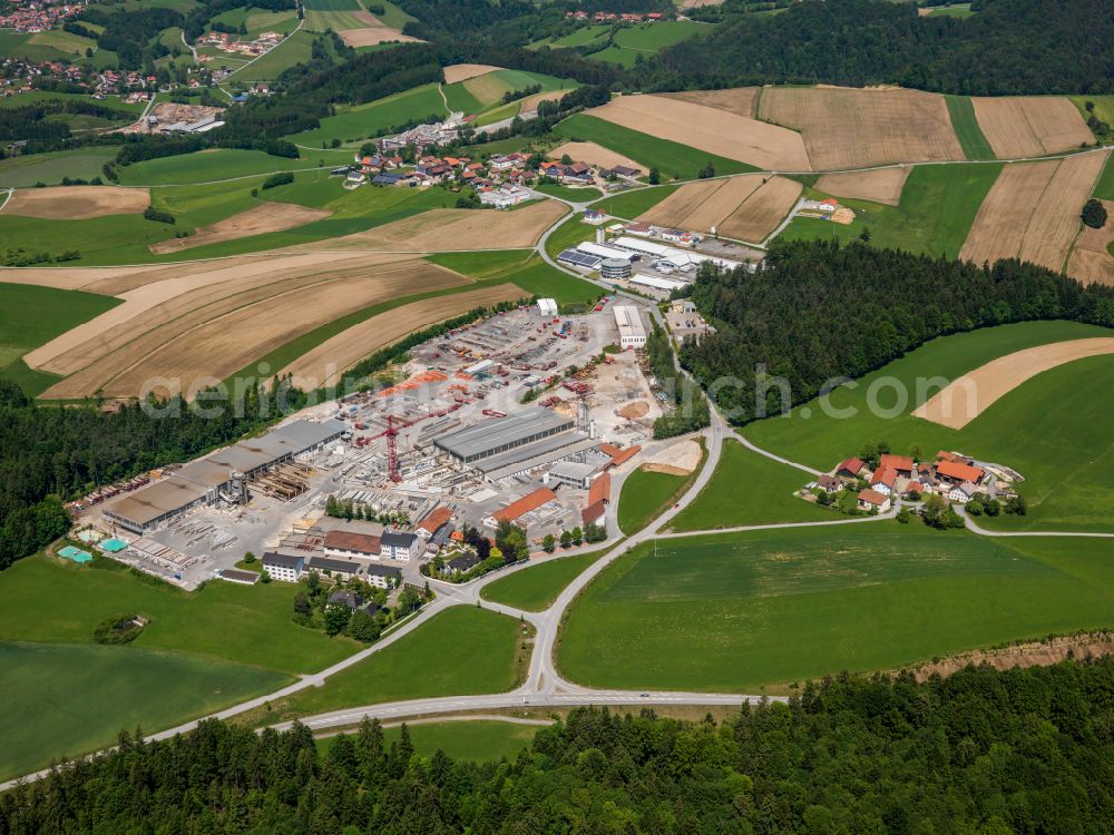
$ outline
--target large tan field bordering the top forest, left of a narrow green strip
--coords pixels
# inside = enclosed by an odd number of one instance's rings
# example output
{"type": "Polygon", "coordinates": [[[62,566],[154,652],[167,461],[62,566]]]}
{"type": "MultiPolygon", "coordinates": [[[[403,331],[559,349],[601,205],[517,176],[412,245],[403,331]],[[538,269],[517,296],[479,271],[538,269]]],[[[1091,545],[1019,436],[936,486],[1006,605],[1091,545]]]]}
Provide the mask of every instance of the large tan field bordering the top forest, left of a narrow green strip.
{"type": "Polygon", "coordinates": [[[919,90],[770,87],[759,118],[800,130],[818,171],[966,159],[944,97],[919,90]]]}

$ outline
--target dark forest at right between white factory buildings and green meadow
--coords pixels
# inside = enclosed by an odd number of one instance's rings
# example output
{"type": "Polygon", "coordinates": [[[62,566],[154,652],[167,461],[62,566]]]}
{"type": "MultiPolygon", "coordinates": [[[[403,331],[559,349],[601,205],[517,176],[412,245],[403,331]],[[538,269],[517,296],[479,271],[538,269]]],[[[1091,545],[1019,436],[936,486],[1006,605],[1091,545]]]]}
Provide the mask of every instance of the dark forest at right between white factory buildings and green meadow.
{"type": "Polygon", "coordinates": [[[704,268],[691,293],[719,332],[687,341],[681,361],[734,422],[781,410],[779,389],[756,396],[760,369],[788,381],[795,405],[958,331],[1055,318],[1114,327],[1114,287],[1017,261],[979,267],[860,243],[778,244],[754,273],[704,268]],[[725,377],[737,380],[716,391],[725,377]]]}

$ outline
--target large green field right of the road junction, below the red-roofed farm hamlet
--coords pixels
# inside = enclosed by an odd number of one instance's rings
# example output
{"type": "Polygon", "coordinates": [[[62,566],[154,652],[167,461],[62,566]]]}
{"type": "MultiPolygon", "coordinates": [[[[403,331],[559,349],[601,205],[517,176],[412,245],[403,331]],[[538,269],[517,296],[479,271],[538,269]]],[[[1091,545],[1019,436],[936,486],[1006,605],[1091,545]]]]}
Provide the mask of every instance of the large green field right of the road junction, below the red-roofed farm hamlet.
{"type": "Polygon", "coordinates": [[[645,543],[605,569],[557,660],[593,687],[755,692],[1108,627],[1101,540],[991,540],[893,521],[645,543]]]}

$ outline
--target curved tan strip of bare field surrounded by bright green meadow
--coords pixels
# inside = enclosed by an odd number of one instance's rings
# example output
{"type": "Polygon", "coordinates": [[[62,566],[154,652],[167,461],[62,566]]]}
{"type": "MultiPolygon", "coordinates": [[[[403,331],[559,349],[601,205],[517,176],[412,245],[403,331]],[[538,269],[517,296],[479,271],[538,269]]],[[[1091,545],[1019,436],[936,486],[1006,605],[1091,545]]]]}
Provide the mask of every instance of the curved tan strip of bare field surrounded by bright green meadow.
{"type": "Polygon", "coordinates": [[[951,429],[962,429],[996,400],[1040,372],[1101,354],[1114,354],[1114,337],[1054,342],[1017,351],[951,381],[913,410],[912,415],[951,429]]]}

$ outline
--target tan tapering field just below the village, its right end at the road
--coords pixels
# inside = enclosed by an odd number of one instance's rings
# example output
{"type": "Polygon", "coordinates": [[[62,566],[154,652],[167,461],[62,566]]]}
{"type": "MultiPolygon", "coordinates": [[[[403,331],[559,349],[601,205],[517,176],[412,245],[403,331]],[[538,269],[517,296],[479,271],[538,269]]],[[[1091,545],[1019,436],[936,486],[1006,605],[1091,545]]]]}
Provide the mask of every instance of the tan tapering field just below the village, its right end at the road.
{"type": "Polygon", "coordinates": [[[432,209],[367,232],[322,240],[302,249],[437,253],[534,246],[568,209],[543,200],[514,210],[432,209]]]}

